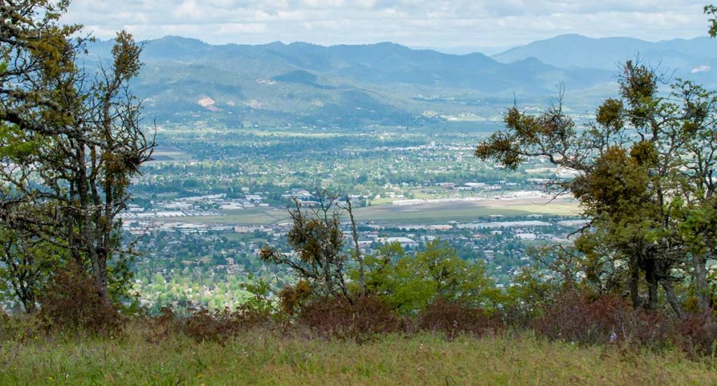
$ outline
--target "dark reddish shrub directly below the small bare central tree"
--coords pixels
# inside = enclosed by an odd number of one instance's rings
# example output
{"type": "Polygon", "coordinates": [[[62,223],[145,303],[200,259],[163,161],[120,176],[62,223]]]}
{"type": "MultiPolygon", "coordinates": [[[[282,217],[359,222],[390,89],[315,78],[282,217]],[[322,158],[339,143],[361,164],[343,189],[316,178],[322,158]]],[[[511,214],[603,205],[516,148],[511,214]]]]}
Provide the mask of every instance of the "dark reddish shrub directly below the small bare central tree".
{"type": "Polygon", "coordinates": [[[320,336],[358,342],[374,334],[402,331],[402,321],[377,296],[356,297],[353,303],[343,297],[314,301],[304,307],[299,320],[320,336]]]}

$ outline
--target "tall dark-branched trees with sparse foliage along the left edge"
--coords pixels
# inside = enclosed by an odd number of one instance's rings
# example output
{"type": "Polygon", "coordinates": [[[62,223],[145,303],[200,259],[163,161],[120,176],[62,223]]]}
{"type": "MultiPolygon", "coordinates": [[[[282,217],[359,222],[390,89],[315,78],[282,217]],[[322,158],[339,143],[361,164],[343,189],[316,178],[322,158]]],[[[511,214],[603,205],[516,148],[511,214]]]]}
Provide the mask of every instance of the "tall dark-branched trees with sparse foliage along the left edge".
{"type": "MultiPolygon", "coordinates": [[[[42,263],[43,253],[22,252],[30,242],[60,265],[71,260],[87,270],[109,304],[130,297],[133,251],[121,249],[118,215],[130,199],[130,179],[154,146],[138,126],[140,106],[128,89],[141,67],[141,46],[120,32],[113,65],[91,77],[75,65],[87,42],[77,38],[80,26],[60,22],[69,4],[0,6],[0,219],[21,232],[4,237],[5,255],[14,255],[4,260],[27,262],[20,266],[43,275],[4,273],[19,275],[11,283],[32,283],[14,288],[41,289],[34,283],[46,281],[52,268],[42,263]]],[[[30,311],[32,301],[24,298],[35,295],[16,296],[30,311]]]]}

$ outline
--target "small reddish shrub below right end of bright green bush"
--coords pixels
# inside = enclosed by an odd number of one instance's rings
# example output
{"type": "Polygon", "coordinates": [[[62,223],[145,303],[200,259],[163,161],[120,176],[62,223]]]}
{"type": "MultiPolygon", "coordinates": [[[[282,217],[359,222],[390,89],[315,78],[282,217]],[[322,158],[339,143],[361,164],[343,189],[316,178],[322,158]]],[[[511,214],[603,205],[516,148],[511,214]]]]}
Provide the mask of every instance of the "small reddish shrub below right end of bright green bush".
{"type": "Polygon", "coordinates": [[[457,332],[483,335],[495,333],[503,328],[500,316],[489,315],[482,309],[466,306],[460,302],[449,302],[443,298],[430,303],[418,315],[420,329],[445,332],[452,339],[457,332]]]}

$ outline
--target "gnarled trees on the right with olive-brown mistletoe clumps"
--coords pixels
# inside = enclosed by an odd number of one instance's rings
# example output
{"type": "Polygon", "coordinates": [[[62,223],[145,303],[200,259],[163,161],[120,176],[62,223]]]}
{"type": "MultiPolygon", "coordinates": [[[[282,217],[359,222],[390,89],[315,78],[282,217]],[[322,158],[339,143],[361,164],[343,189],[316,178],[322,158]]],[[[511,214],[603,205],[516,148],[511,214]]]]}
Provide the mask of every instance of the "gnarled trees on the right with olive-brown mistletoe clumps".
{"type": "Polygon", "coordinates": [[[622,286],[635,307],[651,311],[662,287],[680,316],[673,283],[690,280],[683,269],[692,271],[701,309],[711,307],[705,265],[717,255],[709,241],[717,225],[717,94],[676,80],[665,98],[657,87],[664,81],[627,61],[619,98],[599,106],[595,123],[576,130],[561,101],[538,116],[514,107],[505,116],[506,130],[480,143],[475,154],[510,169],[538,157],[576,171],[576,178],[554,187],[571,192],[591,219],[576,240],[587,257],[577,268],[592,283],[609,283],[610,291],[622,286]],[[643,279],[647,298],[640,295],[643,279]]]}

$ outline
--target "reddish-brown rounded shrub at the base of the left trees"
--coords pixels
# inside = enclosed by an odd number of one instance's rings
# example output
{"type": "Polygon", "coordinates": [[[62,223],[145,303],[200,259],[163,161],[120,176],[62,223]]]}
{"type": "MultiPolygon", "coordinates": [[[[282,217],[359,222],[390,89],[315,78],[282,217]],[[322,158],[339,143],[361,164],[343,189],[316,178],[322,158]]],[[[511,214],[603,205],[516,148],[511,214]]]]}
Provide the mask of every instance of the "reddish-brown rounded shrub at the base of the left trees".
{"type": "Polygon", "coordinates": [[[92,278],[72,262],[57,272],[39,301],[40,319],[46,330],[109,334],[122,328],[123,318],[118,311],[103,301],[92,278]]]}

